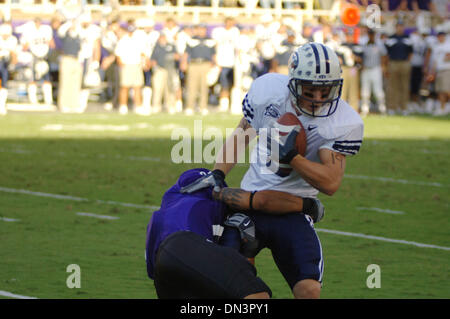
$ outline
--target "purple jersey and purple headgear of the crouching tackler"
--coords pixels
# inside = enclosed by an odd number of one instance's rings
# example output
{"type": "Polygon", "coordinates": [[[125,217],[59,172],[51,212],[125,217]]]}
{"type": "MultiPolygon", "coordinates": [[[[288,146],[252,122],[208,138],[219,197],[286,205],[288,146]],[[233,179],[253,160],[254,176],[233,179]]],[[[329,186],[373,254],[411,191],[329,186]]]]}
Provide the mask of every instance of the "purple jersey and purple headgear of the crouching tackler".
{"type": "Polygon", "coordinates": [[[147,226],[147,273],[153,279],[156,252],[161,242],[177,231],[189,230],[213,240],[213,225],[222,224],[226,206],[213,200],[211,188],[192,194],[181,194],[180,188],[206,175],[207,169],[196,168],[181,174],[177,183],[163,196],[161,208],[154,212],[147,226]]]}

